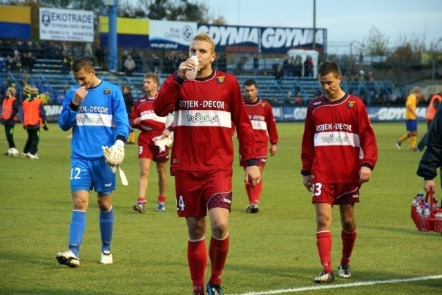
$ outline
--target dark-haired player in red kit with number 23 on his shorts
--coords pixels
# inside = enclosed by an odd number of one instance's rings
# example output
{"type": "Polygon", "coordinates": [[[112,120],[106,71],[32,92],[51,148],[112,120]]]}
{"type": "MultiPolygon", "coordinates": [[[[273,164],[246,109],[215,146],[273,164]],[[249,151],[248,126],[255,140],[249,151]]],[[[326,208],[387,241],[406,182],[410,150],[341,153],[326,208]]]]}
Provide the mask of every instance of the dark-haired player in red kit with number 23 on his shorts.
{"type": "Polygon", "coordinates": [[[312,192],[316,209],[316,245],[323,271],[316,283],[332,283],[332,208],[339,205],[342,256],[340,278],[349,278],[349,260],[356,240],[354,204],[361,184],[368,182],[378,160],[378,149],[367,109],[359,97],[340,88],[338,64],[326,61],[318,68],[324,95],[307,108],[302,137],[302,170],[305,187],[312,192]]]}

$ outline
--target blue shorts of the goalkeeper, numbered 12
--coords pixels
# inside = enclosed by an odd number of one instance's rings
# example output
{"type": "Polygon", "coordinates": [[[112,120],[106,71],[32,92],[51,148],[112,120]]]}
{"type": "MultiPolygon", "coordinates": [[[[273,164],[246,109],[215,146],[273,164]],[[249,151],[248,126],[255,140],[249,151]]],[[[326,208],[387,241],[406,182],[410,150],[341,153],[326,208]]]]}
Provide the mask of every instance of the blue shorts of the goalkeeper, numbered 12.
{"type": "Polygon", "coordinates": [[[70,167],[70,191],[90,191],[108,195],[115,191],[115,173],[104,158],[87,160],[73,155],[70,167]]]}

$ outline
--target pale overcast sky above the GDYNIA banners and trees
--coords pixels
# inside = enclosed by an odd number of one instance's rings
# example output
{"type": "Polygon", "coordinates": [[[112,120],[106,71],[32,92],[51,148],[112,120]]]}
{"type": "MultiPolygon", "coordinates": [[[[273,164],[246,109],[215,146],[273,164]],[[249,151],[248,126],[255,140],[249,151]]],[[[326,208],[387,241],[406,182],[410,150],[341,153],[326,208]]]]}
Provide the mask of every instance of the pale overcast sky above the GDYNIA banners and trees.
{"type": "MultiPolygon", "coordinates": [[[[209,15],[222,16],[229,25],[313,27],[314,0],[199,1],[209,15]]],[[[435,44],[442,38],[442,0],[316,0],[316,28],[327,29],[329,52],[362,42],[373,26],[392,45],[404,37],[435,44]]]]}

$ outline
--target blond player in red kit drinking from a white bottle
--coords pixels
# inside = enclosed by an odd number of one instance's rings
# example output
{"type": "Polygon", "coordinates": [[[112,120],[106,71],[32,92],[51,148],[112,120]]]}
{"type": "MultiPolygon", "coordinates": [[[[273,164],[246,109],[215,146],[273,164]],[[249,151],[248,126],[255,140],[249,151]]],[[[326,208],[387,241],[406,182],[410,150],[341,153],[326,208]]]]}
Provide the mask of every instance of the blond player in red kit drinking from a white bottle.
{"type": "Polygon", "coordinates": [[[232,200],[232,122],[242,146],[240,154],[247,162],[244,182],[259,183],[260,171],[253,129],[236,77],[213,70],[215,43],[208,34],[193,37],[189,56],[193,55],[198,63],[189,58],[179,65],[177,73],[164,81],[153,109],[159,116],[175,111],[171,174],[175,175],[177,213],[186,218],[189,233],[187,260],[193,294],[204,294],[208,252],[204,234],[209,211],[211,277],[206,292],[222,295],[232,200]],[[196,78],[187,79],[186,72],[195,68],[196,78]]]}

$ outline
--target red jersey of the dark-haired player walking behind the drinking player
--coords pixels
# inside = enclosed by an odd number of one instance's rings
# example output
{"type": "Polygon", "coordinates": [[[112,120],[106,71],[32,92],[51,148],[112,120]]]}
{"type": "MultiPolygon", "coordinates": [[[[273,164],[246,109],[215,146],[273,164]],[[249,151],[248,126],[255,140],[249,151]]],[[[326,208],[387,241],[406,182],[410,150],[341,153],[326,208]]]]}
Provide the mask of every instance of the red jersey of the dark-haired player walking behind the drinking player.
{"type": "Polygon", "coordinates": [[[258,155],[258,157],[265,157],[269,140],[271,144],[278,143],[278,131],[271,105],[265,100],[258,99],[253,104],[246,102],[244,106],[255,135],[256,149],[266,151],[265,155],[258,155]]]}

